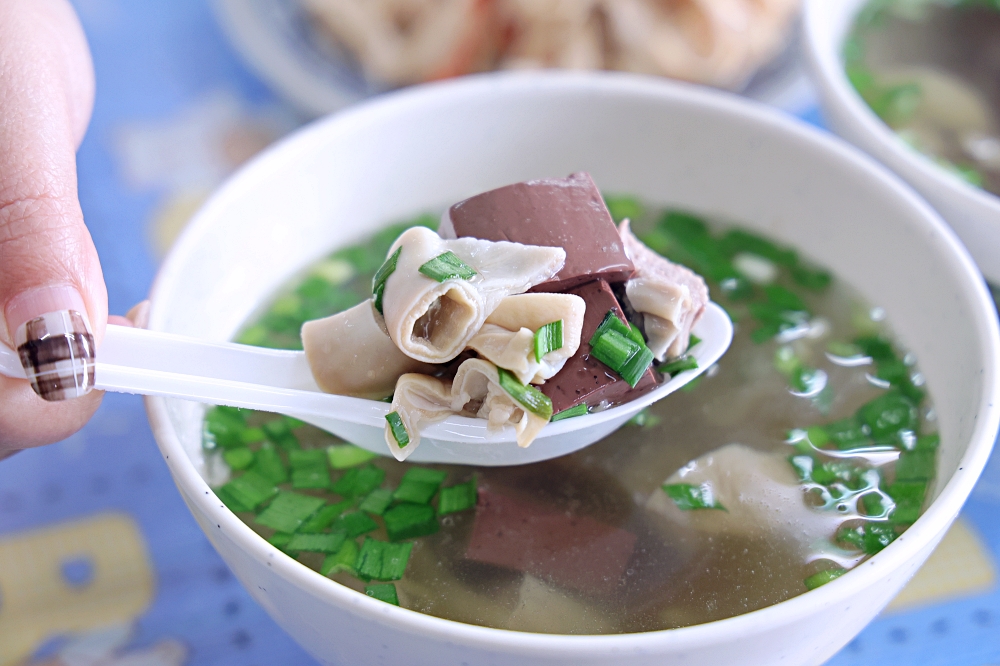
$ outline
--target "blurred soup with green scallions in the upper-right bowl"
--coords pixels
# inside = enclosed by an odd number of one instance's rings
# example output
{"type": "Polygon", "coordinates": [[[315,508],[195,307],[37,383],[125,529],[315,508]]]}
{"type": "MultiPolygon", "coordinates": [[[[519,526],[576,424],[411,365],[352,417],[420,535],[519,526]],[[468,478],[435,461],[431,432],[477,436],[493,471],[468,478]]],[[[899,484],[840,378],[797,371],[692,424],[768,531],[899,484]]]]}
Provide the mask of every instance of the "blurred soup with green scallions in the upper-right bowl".
{"type": "Polygon", "coordinates": [[[1000,4],[872,0],[844,49],[872,110],[942,168],[1000,194],[1000,4]]]}

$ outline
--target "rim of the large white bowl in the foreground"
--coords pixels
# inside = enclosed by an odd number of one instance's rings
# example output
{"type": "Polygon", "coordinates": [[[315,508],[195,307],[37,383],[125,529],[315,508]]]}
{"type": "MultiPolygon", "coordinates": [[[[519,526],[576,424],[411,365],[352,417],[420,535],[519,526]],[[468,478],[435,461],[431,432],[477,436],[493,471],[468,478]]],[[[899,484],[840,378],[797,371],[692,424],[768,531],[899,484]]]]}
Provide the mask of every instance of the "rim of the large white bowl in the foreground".
{"type": "Polygon", "coordinates": [[[970,298],[978,303],[970,324],[975,327],[985,352],[983,359],[983,395],[979,415],[959,467],[941,487],[941,491],[927,511],[882,552],[867,560],[865,566],[851,571],[850,576],[840,577],[808,594],[767,606],[749,613],[723,620],[677,629],[665,629],[633,634],[564,635],[536,634],[504,629],[493,629],[465,624],[453,620],[425,615],[398,608],[361,595],[333,580],[301,565],[271,546],[257,535],[229,509],[218,501],[202,479],[176,433],[167,415],[166,401],[147,397],[146,407],[156,441],[175,483],[188,501],[196,504],[217,529],[224,530],[229,539],[244,552],[266,564],[273,572],[290,584],[309,590],[325,603],[339,607],[381,625],[419,633],[425,638],[456,645],[479,648],[503,649],[508,652],[533,656],[581,654],[591,657],[606,655],[621,657],[627,652],[643,651],[669,644],[675,649],[693,648],[706,643],[716,643],[721,635],[735,641],[754,635],[765,628],[793,624],[800,617],[819,608],[832,608],[848,601],[859,590],[879,579],[900,570],[917,556],[921,549],[940,538],[957,516],[973,485],[986,465],[994,438],[1000,425],[1000,330],[993,301],[971,257],[958,238],[931,207],[897,176],[878,164],[857,148],[834,136],[824,133],[803,121],[727,93],[705,89],[691,84],[670,82],[653,77],[608,72],[532,72],[491,73],[462,79],[415,86],[389,93],[357,106],[319,119],[296,130],[266,149],[243,166],[209,199],[187,225],[180,238],[161,265],[151,291],[150,327],[159,325],[161,315],[157,295],[175,273],[183,271],[181,258],[187,248],[196,245],[203,228],[212,224],[216,211],[224,210],[228,201],[240,195],[257,180],[258,174],[268,173],[275,162],[283,162],[295,153],[308,151],[311,145],[320,144],[314,137],[321,136],[331,127],[363,126],[382,115],[404,113],[407,108],[427,103],[462,103],[470,98],[483,98],[506,93],[531,92],[533,94],[559,95],[588,94],[618,96],[623,103],[629,98],[655,101],[664,105],[686,105],[721,112],[735,120],[759,128],[762,132],[790,134],[807,150],[826,155],[827,159],[842,164],[844,169],[860,170],[877,181],[910,208],[918,218],[917,224],[933,232],[942,243],[943,258],[952,264],[959,280],[966,283],[970,298]]]}

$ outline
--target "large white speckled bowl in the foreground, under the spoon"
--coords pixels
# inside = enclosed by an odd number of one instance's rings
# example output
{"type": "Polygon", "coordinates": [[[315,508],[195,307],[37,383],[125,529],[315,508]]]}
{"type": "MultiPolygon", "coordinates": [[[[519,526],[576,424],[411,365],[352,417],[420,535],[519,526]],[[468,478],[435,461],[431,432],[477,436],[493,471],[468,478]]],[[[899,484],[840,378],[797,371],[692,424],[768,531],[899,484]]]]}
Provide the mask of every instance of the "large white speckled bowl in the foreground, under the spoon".
{"type": "Polygon", "coordinates": [[[199,475],[200,409],[148,399],[177,486],[236,576],[330,664],[818,664],[937,545],[998,424],[997,323],[971,259],[936,214],[854,149],[736,97],[626,75],[507,74],[413,88],[268,150],[198,214],[166,259],[150,327],[222,340],[334,245],[472,193],[589,171],[801,248],[883,305],[921,360],[943,435],[936,499],[850,574],[720,622],[618,636],[486,629],[353,592],[271,547],[199,475]]]}

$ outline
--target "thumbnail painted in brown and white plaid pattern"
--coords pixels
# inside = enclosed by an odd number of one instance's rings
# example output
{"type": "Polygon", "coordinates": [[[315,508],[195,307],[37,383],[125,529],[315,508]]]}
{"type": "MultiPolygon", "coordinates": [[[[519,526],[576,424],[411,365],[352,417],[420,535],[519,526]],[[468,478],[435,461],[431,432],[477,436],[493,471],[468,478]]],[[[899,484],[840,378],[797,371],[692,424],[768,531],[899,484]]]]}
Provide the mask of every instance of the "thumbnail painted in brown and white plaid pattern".
{"type": "Polygon", "coordinates": [[[94,388],[94,336],[78,310],[57,310],[29,319],[14,344],[31,388],[45,400],[70,400],[94,388]]]}

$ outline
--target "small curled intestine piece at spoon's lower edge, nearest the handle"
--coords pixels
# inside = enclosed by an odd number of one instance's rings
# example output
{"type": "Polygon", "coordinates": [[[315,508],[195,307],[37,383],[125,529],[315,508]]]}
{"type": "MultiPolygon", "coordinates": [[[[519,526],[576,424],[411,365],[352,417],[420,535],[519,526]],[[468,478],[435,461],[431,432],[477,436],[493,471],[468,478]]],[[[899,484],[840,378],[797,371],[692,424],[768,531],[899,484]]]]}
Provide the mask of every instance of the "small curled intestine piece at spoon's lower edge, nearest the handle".
{"type": "Polygon", "coordinates": [[[399,414],[409,442],[406,446],[400,446],[387,420],[385,443],[389,445],[393,457],[396,460],[406,460],[420,446],[420,431],[425,425],[442,421],[455,414],[451,405],[450,382],[417,373],[402,375],[396,381],[391,412],[399,414]]]}

